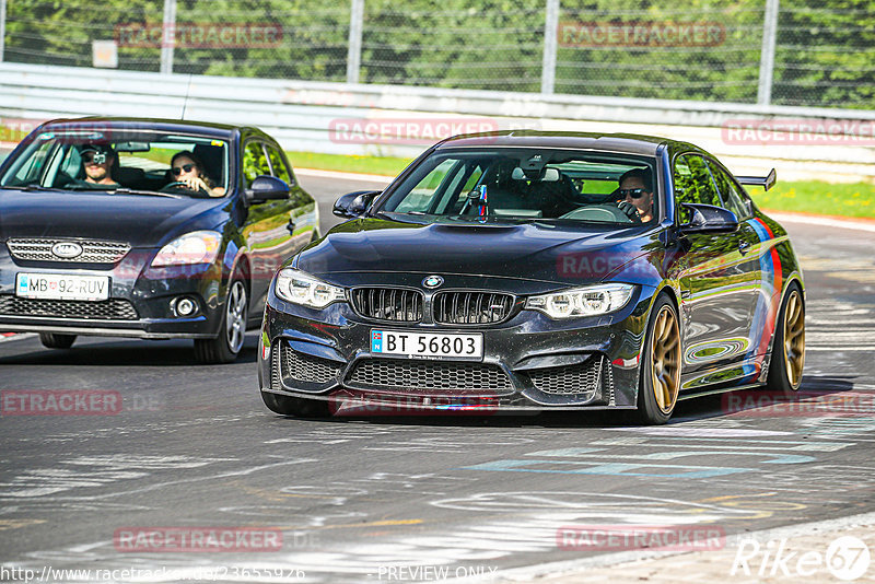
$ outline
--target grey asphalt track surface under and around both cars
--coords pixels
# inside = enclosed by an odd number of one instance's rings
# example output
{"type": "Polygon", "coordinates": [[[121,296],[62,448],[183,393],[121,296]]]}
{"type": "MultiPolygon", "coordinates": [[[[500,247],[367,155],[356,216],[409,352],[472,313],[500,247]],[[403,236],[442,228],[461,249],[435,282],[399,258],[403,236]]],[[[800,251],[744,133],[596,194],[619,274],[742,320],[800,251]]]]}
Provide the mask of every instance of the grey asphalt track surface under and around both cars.
{"type": "MultiPolygon", "coordinates": [[[[324,225],[338,195],[374,186],[302,183],[324,225]]],[[[728,547],[736,534],[873,512],[875,233],[784,224],[807,283],[803,388],[826,394],[804,411],[737,411],[712,396],[658,428],[604,413],[295,420],[261,404],[255,334],[222,366],[192,364],[185,341],[0,342],[2,390],[122,399],[115,414],[0,419],[0,579],[499,582],[610,553],[557,538],[569,527],[715,527],[728,547]],[[282,545],[131,551],[120,539],[152,527],[278,529],[282,545]]]]}

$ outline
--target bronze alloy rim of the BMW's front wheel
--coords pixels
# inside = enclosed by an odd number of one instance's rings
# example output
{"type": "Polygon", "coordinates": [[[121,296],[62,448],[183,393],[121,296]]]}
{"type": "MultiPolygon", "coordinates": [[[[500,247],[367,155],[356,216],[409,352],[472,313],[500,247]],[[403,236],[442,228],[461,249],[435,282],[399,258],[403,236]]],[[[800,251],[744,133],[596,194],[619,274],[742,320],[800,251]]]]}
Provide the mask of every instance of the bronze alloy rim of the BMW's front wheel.
{"type": "Polygon", "coordinates": [[[672,413],[680,388],[680,330],[668,305],[656,315],[651,336],[651,363],[656,405],[663,413],[672,413]]]}

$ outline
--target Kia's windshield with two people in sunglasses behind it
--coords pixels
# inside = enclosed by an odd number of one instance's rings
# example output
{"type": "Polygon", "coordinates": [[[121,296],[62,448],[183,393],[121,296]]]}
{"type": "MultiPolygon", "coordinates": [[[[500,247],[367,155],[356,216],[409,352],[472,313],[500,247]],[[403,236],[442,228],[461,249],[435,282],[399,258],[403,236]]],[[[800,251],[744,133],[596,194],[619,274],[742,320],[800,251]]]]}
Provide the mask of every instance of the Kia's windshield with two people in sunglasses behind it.
{"type": "Polygon", "coordinates": [[[0,186],[222,197],[228,160],[228,142],[211,137],[48,128],[12,161],[0,186]]]}

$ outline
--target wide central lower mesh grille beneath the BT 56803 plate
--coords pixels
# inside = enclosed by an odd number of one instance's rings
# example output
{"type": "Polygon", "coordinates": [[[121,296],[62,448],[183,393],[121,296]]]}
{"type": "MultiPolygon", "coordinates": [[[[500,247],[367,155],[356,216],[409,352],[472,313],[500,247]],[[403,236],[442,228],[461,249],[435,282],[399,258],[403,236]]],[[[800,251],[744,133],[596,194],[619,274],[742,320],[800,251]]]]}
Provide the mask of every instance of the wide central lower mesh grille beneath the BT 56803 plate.
{"type": "Polygon", "coordinates": [[[421,392],[429,389],[510,390],[508,374],[491,363],[451,363],[366,359],[360,361],[346,385],[360,389],[421,392]]]}

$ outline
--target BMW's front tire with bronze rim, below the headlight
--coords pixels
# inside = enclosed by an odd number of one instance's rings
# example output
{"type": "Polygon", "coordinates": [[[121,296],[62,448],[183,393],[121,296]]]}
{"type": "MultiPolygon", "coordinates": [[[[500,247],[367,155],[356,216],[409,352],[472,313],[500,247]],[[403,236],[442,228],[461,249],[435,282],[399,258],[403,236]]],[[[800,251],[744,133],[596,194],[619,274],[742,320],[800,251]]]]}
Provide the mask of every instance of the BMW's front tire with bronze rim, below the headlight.
{"type": "Polygon", "coordinates": [[[680,325],[668,296],[653,304],[644,339],[637,418],[642,424],[664,424],[680,393],[680,325]]]}

